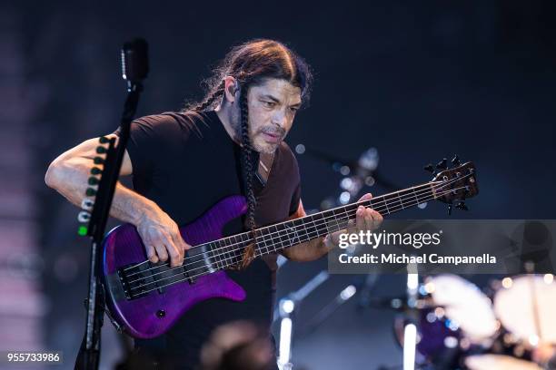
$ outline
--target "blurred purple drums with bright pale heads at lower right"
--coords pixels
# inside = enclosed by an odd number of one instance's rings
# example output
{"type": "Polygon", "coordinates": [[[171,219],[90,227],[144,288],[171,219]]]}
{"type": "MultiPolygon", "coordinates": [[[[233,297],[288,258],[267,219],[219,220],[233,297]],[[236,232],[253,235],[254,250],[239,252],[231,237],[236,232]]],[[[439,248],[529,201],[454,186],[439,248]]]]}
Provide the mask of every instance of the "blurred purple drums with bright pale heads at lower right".
{"type": "Polygon", "coordinates": [[[521,275],[491,282],[488,293],[463,277],[426,277],[409,315],[394,320],[403,346],[408,321],[417,327],[415,363],[423,369],[541,369],[540,343],[556,345],[556,282],[521,275]]]}

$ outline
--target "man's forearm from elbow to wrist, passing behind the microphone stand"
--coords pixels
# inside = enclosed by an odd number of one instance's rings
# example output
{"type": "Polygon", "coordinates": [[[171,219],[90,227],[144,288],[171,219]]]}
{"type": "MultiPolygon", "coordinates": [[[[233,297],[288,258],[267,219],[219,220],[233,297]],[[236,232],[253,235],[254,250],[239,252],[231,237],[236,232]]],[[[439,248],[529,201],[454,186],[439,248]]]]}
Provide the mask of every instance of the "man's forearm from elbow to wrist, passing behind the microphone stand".
{"type": "MultiPolygon", "coordinates": [[[[48,169],[45,180],[48,186],[57,190],[77,207],[81,207],[88,188],[89,170],[90,166],[83,161],[55,162],[48,169]]],[[[116,183],[110,216],[136,225],[145,211],[153,207],[153,201],[124,187],[119,181],[116,183]]]]}

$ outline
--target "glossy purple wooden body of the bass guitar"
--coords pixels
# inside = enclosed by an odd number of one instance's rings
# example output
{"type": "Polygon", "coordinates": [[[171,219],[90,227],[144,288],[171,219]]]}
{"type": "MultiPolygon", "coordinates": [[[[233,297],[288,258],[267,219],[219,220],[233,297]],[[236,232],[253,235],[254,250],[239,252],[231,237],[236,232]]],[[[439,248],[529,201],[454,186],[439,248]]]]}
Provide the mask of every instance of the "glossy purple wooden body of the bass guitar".
{"type": "MultiPolygon", "coordinates": [[[[192,246],[222,238],[224,225],[242,216],[247,204],[242,196],[219,201],[202,217],[180,228],[184,240],[192,246]]],[[[144,297],[124,296],[118,269],[144,262],[146,252],[134,225],[124,224],[110,231],[103,242],[103,277],[106,305],[114,320],[136,338],[164,334],[178,318],[195,304],[221,297],[242,301],[245,291],[224,271],[185,280],[147,293],[144,297]]]]}

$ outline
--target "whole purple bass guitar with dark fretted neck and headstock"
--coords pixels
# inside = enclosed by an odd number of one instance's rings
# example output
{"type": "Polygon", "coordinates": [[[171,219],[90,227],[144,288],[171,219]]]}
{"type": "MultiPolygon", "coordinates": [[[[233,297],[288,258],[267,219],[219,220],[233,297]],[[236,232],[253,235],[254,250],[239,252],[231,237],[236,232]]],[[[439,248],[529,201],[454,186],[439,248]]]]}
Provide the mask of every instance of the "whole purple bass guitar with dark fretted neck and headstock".
{"type": "MultiPolygon", "coordinates": [[[[478,192],[474,172],[473,164],[467,162],[442,170],[422,185],[256,229],[253,258],[345,229],[360,205],[388,215],[429,200],[452,205],[454,200],[471,198],[478,192]]],[[[465,208],[462,202],[458,205],[465,208]]],[[[205,299],[243,300],[243,288],[224,271],[241,262],[243,249],[253,244],[253,233],[223,238],[222,230],[246,209],[242,196],[228,197],[181,227],[182,237],[193,247],[186,253],[184,264],[175,268],[168,262],[154,264],[146,258],[133,225],[110,231],[103,242],[103,278],[106,304],[116,325],[131,336],[152,338],[164,334],[185,311],[205,299]]]]}

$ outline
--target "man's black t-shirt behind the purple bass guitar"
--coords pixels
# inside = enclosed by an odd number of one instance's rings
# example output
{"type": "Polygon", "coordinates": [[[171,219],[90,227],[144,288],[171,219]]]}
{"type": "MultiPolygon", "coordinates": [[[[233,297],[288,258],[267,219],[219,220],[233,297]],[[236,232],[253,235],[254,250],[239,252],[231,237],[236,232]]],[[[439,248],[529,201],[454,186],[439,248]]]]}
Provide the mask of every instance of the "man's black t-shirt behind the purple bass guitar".
{"type": "MultiPolygon", "coordinates": [[[[134,190],[153,200],[180,226],[200,217],[219,200],[243,194],[240,147],[216,112],[194,117],[166,112],[137,119],[131,125],[127,151],[133,165],[134,190]]],[[[258,153],[253,155],[253,162],[258,164],[258,153]]],[[[281,222],[298,208],[299,169],[285,142],[274,154],[266,184],[255,177],[253,187],[258,227],[281,222]]],[[[244,230],[242,220],[237,219],[224,228],[224,235],[244,230]]],[[[270,326],[276,257],[257,258],[242,271],[227,272],[245,289],[243,302],[220,298],[201,302],[165,335],[135,340],[135,346],[139,351],[174,357],[180,368],[191,368],[216,326],[237,319],[270,326]]]]}

